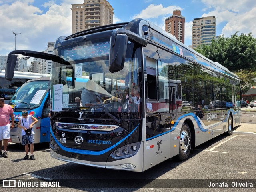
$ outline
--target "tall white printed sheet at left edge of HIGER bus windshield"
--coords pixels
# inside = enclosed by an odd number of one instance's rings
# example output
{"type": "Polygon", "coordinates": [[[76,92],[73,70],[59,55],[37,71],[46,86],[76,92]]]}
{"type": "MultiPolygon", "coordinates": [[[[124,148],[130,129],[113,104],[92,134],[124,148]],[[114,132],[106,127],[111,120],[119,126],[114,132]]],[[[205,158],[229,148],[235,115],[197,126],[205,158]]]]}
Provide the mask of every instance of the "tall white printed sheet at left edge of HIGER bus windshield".
{"type": "Polygon", "coordinates": [[[63,84],[53,85],[52,111],[62,111],[63,84]]]}

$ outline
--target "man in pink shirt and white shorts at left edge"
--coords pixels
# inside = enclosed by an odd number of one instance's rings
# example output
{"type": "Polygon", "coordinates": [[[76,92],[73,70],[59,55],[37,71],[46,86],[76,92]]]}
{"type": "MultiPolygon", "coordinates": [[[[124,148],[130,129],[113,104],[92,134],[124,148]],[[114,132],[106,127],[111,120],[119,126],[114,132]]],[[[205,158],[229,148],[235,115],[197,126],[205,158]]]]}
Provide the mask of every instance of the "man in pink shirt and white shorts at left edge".
{"type": "Polygon", "coordinates": [[[8,139],[10,139],[11,129],[14,128],[14,115],[12,107],[4,103],[4,98],[0,98],[0,156],[8,157],[6,152],[8,139]],[[10,116],[12,124],[10,124],[10,116]],[[2,154],[2,140],[4,141],[4,153],[2,154]]]}

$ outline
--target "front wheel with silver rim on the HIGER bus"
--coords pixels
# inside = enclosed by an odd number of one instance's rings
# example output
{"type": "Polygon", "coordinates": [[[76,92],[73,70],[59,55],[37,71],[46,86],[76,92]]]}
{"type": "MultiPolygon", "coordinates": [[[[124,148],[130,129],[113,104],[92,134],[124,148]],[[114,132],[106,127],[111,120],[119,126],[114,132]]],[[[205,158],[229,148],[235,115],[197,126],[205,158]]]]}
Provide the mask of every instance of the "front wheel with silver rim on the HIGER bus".
{"type": "Polygon", "coordinates": [[[191,133],[188,124],[184,123],[180,130],[180,152],[176,156],[178,160],[186,160],[191,151],[191,133]]]}

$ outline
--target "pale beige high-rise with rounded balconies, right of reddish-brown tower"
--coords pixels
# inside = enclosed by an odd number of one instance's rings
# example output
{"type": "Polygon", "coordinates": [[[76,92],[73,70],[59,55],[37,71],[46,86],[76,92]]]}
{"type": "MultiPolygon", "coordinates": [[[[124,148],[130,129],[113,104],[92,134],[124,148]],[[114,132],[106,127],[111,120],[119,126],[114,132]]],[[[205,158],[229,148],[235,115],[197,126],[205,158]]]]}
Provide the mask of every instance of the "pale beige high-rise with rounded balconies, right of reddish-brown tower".
{"type": "Polygon", "coordinates": [[[200,44],[211,44],[216,37],[216,17],[202,17],[193,20],[192,26],[192,48],[200,44]]]}

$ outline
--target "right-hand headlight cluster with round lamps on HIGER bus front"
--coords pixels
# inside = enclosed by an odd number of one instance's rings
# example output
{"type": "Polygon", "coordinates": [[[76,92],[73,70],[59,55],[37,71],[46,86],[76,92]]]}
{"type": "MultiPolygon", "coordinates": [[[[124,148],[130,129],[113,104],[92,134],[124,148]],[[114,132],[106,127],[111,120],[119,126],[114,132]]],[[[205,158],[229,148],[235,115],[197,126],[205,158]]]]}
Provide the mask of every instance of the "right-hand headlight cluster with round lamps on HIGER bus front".
{"type": "Polygon", "coordinates": [[[134,156],[140,148],[140,143],[131,143],[123,146],[110,154],[114,159],[123,159],[134,156]]]}

